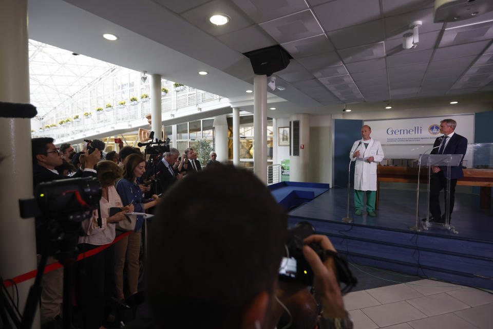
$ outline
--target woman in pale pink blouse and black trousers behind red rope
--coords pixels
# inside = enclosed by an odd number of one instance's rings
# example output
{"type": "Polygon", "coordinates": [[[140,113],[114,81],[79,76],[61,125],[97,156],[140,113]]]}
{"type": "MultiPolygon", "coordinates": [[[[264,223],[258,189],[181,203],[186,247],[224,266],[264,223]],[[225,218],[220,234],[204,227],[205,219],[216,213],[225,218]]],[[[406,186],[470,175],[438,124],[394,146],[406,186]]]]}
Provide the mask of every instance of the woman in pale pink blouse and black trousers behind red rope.
{"type": "MultiPolygon", "coordinates": [[[[87,252],[115,240],[115,223],[125,218],[125,212],[134,211],[134,206],[124,204],[115,189],[115,182],[121,177],[121,170],[113,161],[101,161],[97,165],[98,180],[101,183],[100,212],[93,212],[91,218],[82,222],[86,235],[79,237],[79,250],[87,252]],[[120,212],[110,215],[109,209],[119,207],[120,212]],[[101,218],[101,219],[100,219],[101,218]]],[[[81,327],[100,328],[111,311],[111,297],[115,291],[113,264],[115,248],[108,248],[77,263],[79,278],[79,309],[81,327]]]]}

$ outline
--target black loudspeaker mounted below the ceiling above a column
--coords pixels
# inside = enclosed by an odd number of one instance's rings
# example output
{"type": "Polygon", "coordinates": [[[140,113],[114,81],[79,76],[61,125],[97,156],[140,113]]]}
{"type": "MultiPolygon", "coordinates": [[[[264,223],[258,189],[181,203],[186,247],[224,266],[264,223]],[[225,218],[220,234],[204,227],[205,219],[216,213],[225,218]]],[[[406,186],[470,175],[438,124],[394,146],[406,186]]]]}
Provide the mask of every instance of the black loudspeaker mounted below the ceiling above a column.
{"type": "Polygon", "coordinates": [[[244,52],[252,63],[256,75],[267,75],[285,69],[293,57],[279,45],[244,52]]]}

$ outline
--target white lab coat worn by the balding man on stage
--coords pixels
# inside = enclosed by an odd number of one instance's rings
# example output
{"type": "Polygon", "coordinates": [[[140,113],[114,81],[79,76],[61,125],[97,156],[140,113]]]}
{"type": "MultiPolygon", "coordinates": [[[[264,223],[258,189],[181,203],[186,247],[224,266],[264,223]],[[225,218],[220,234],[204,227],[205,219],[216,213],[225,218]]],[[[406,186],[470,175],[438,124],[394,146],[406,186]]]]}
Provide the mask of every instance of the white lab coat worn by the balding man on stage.
{"type": "Polygon", "coordinates": [[[384,159],[382,144],[370,137],[368,148],[365,149],[363,139],[354,142],[349,157],[356,161],[354,169],[354,189],[360,191],[376,191],[376,164],[384,159]],[[359,142],[361,144],[358,146],[359,142]],[[354,152],[359,151],[359,157],[353,158],[354,152]],[[373,157],[370,163],[369,157],[373,157]]]}

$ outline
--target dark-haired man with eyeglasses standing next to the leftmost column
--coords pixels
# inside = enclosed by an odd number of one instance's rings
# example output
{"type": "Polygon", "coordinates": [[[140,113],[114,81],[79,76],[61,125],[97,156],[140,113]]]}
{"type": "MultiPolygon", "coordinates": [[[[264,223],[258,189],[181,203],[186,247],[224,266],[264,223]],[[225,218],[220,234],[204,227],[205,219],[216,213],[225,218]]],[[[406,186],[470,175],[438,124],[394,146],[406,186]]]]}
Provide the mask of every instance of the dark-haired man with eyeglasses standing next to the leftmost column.
{"type": "MultiPolygon", "coordinates": [[[[74,177],[93,176],[96,177],[96,170],[94,165],[98,163],[101,152],[96,150],[90,155],[86,152],[86,169],[84,172],[78,172],[72,177],[60,175],[55,167],[62,165],[63,158],[61,151],[53,144],[53,138],[51,137],[39,137],[31,139],[32,149],[32,174],[33,185],[41,182],[52,181],[55,179],[65,179],[74,177]]],[[[37,252],[45,252],[45,232],[43,230],[43,221],[36,218],[36,247],[37,252]]],[[[54,263],[56,260],[53,257],[48,257],[47,264],[54,263]]],[[[63,302],[63,268],[58,268],[53,271],[47,272],[43,276],[43,289],[41,291],[41,324],[47,324],[53,322],[52,325],[56,325],[55,322],[60,323],[62,316],[62,302],[63,302]]]]}

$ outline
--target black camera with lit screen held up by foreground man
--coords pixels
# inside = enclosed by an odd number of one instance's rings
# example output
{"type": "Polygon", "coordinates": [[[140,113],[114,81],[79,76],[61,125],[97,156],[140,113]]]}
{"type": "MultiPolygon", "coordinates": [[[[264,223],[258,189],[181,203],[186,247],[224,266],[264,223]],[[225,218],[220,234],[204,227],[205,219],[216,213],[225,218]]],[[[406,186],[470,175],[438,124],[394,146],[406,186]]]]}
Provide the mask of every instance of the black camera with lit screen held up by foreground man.
{"type": "MultiPolygon", "coordinates": [[[[313,270],[310,264],[305,259],[303,254],[303,246],[308,236],[315,234],[315,228],[309,222],[299,222],[292,228],[288,229],[288,237],[286,239],[286,257],[282,258],[279,268],[279,279],[283,281],[297,280],[301,283],[313,285],[313,270]]],[[[351,270],[348,267],[348,262],[343,255],[332,250],[324,250],[319,244],[312,242],[308,244],[324,262],[328,257],[334,260],[334,271],[337,276],[339,285],[344,283],[341,288],[343,294],[351,291],[357,284],[357,279],[353,277],[351,270]]]]}

